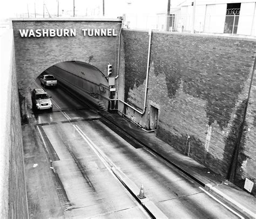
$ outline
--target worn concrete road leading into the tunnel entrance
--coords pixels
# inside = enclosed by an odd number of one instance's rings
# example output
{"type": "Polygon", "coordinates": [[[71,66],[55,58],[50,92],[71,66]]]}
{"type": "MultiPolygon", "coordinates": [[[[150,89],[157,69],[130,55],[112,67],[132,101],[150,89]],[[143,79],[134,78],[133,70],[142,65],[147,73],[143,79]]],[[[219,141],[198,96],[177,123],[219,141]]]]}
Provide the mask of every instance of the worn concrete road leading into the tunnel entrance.
{"type": "Polygon", "coordinates": [[[131,185],[137,194],[143,185],[144,202],[166,218],[239,218],[88,105],[60,88],[46,91],[53,111],[31,110],[23,125],[30,218],[151,218],[131,185]]]}

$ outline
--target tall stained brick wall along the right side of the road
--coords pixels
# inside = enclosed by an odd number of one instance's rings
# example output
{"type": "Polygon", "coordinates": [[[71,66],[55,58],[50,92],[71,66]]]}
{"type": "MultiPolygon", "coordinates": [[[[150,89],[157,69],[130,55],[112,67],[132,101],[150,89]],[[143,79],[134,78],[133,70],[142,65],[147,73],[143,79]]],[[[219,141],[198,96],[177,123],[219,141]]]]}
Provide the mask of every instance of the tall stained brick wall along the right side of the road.
{"type": "MultiPolygon", "coordinates": [[[[125,30],[123,41],[124,98],[142,109],[149,34],[125,30]]],[[[140,116],[127,108],[126,115],[149,128],[150,105],[158,105],[157,137],[184,152],[191,136],[190,156],[227,178],[239,146],[235,175],[255,180],[255,76],[244,120],[255,46],[249,39],[153,32],[147,110],[140,116]]]]}

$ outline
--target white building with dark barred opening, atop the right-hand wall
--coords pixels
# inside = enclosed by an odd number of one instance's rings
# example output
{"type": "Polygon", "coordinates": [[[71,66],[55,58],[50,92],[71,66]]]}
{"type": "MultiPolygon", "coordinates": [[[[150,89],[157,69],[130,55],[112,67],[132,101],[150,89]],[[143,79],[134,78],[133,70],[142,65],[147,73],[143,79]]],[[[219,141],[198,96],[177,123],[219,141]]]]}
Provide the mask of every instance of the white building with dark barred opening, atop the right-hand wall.
{"type": "Polygon", "coordinates": [[[171,15],[176,19],[176,31],[256,36],[255,1],[185,1],[171,15]]]}

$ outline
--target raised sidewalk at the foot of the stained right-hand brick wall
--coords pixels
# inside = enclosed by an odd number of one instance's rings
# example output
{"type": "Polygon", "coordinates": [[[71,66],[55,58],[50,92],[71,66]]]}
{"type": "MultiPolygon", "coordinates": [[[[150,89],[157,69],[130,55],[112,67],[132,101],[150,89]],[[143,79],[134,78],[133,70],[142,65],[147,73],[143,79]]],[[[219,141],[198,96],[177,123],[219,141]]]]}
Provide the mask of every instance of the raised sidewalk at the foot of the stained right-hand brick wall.
{"type": "Polygon", "coordinates": [[[197,163],[197,161],[163,142],[156,137],[156,133],[145,132],[117,114],[110,114],[106,111],[99,112],[99,114],[107,119],[107,125],[114,124],[118,126],[126,135],[136,139],[138,143],[177,167],[180,171],[197,181],[202,187],[214,193],[215,196],[218,196],[221,200],[238,209],[249,218],[256,218],[256,197],[253,195],[233,185],[233,183],[225,181],[222,176],[212,172],[210,169],[197,163]],[[224,184],[224,181],[227,182],[227,185],[226,183],[224,184]]]}

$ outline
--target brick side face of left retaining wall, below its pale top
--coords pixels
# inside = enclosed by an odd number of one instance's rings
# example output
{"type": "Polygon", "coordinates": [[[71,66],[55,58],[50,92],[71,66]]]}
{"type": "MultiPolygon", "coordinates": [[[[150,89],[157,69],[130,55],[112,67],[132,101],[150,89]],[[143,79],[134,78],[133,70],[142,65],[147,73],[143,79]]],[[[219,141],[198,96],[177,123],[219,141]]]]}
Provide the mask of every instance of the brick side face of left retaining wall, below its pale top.
{"type": "Polygon", "coordinates": [[[29,218],[26,199],[26,184],[23,163],[21,114],[19,112],[18,86],[15,59],[12,62],[11,114],[10,114],[10,167],[8,218],[29,218]]]}

